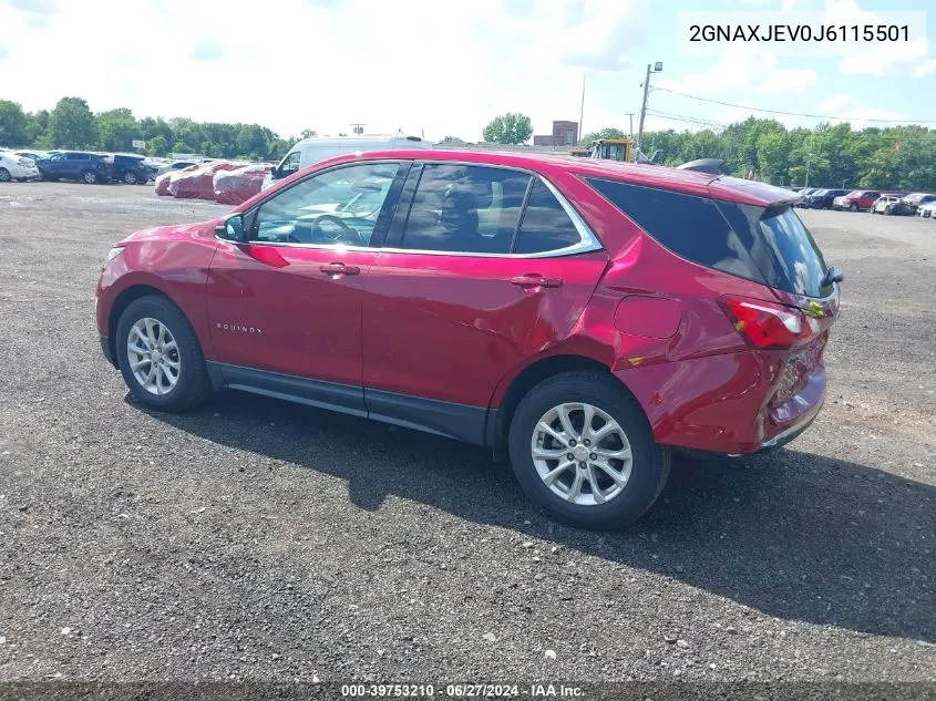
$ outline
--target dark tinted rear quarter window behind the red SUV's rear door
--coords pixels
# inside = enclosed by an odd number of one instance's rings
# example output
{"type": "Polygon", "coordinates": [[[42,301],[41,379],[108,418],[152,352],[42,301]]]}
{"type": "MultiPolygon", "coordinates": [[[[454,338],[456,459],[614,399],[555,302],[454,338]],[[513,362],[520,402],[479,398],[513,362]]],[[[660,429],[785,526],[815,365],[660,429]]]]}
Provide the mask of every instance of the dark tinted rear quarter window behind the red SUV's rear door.
{"type": "Polygon", "coordinates": [[[764,281],[750,252],[755,248],[753,230],[732,229],[710,199],[613,181],[588,183],[675,254],[709,268],[764,281]]]}

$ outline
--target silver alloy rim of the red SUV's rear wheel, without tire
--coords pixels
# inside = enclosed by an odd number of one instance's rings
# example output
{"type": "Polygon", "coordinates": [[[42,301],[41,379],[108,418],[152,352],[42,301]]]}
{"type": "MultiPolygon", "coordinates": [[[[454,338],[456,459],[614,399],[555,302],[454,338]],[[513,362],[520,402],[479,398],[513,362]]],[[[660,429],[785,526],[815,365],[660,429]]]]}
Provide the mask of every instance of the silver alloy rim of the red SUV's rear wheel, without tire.
{"type": "Polygon", "coordinates": [[[553,494],[572,504],[605,504],[624,492],[634,457],[620,424],[592,404],[547,411],[533,431],[533,464],[553,494]]]}

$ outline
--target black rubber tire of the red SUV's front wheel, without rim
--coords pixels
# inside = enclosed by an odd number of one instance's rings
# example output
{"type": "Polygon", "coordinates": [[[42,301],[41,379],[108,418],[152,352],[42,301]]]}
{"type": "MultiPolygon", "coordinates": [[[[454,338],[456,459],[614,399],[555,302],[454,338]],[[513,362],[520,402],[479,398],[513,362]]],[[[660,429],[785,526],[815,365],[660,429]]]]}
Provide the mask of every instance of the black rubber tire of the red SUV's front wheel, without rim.
{"type": "MultiPolygon", "coordinates": [[[[157,327],[154,328],[156,329],[155,334],[158,337],[161,331],[157,327]]],[[[117,322],[115,347],[117,363],[124,382],[126,382],[134,398],[142,404],[158,411],[179,412],[204,402],[212,394],[208,369],[205,365],[205,355],[202,353],[198,338],[192,330],[185,315],[165,297],[141,297],[131,302],[117,322]],[[167,390],[164,393],[147,390],[131,368],[127,348],[131,339],[134,339],[137,347],[146,347],[134,331],[134,324],[137,322],[144,323],[144,319],[155,320],[160,326],[165,327],[175,341],[175,352],[166,351],[163,354],[168,361],[177,363],[178,371],[175,384],[171,389],[168,389],[167,375],[162,375],[163,382],[160,382],[160,386],[167,390]],[[132,333],[133,336],[131,336],[132,333]]],[[[146,371],[148,367],[143,365],[141,372],[146,371]]]]}

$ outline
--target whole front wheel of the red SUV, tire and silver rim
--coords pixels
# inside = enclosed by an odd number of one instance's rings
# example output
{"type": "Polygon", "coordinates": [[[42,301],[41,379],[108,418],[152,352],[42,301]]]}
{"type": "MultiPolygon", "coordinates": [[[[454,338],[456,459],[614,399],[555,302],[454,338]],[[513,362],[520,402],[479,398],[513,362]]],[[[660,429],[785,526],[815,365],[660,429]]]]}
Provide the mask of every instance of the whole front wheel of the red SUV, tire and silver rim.
{"type": "Polygon", "coordinates": [[[131,302],[117,323],[115,344],[124,382],[143,404],[184,411],[212,393],[198,338],[168,299],[131,302]]]}

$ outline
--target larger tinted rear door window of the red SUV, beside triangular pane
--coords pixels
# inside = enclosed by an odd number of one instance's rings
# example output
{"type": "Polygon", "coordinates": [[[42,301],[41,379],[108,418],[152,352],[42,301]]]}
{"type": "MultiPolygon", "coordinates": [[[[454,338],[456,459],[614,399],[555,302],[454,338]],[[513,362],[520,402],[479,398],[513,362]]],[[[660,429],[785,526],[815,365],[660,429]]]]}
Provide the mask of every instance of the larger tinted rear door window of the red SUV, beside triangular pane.
{"type": "Polygon", "coordinates": [[[428,164],[413,195],[402,248],[507,254],[529,176],[504,168],[428,164]]]}

